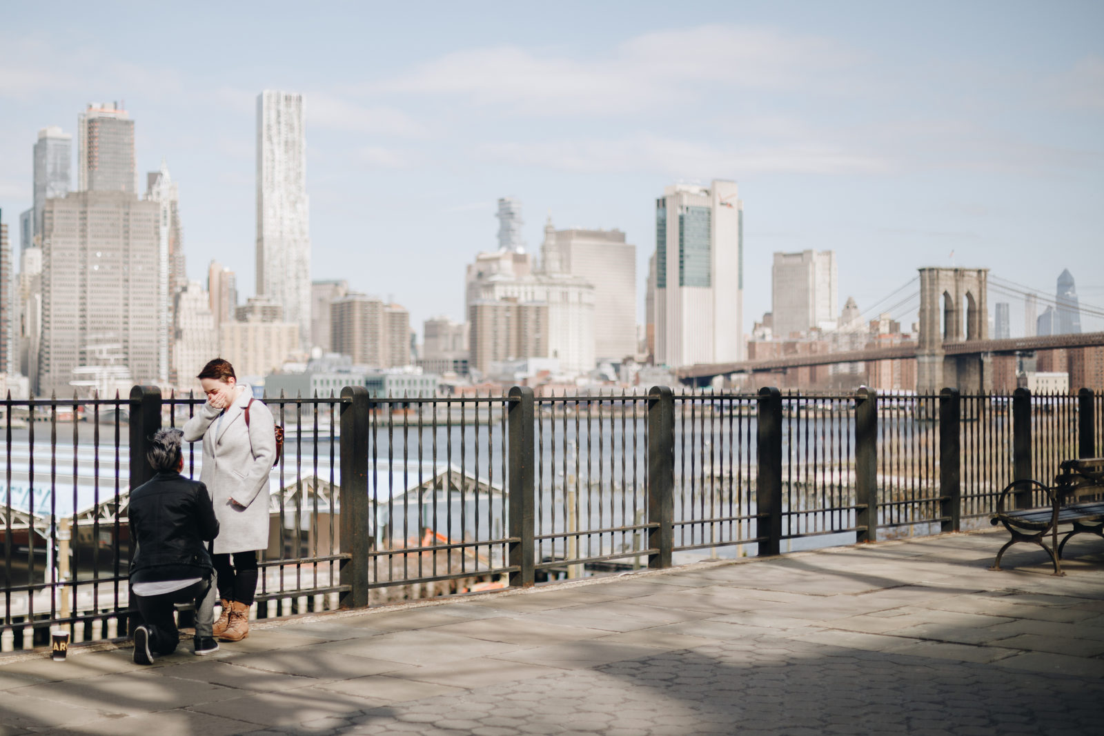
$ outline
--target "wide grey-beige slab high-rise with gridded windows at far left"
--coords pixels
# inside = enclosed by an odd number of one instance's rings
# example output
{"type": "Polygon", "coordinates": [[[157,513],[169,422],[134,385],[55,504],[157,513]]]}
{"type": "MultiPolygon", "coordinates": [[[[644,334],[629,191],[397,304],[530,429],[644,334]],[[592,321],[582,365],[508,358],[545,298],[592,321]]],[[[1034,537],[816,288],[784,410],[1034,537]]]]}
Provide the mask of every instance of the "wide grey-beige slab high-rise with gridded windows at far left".
{"type": "Polygon", "coordinates": [[[72,392],[75,371],[158,380],[160,209],[130,192],[46,200],[36,393],[72,392]]]}

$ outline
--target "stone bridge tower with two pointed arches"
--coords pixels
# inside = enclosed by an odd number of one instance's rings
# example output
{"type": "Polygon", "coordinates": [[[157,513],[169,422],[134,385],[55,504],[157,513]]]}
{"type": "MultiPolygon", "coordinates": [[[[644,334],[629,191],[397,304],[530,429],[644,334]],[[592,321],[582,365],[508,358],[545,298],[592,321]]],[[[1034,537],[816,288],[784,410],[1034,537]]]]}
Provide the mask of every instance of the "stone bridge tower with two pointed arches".
{"type": "Polygon", "coordinates": [[[947,355],[943,349],[944,342],[989,339],[988,278],[988,268],[920,269],[917,393],[937,394],[948,386],[964,394],[992,390],[989,353],[947,355]]]}

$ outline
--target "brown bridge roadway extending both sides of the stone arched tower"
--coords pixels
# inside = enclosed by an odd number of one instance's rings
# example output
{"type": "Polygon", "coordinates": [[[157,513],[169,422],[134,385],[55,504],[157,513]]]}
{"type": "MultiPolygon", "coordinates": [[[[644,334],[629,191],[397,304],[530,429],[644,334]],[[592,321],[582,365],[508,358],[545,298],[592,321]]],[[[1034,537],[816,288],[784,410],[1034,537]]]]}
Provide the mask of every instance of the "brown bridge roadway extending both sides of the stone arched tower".
{"type": "MultiPolygon", "coordinates": [[[[1018,353],[1033,350],[1057,350],[1061,348],[1093,348],[1097,345],[1104,345],[1104,332],[1054,334],[1042,338],[944,342],[943,350],[947,355],[968,355],[980,353],[1018,353]]],[[[915,356],[916,343],[910,342],[903,345],[893,345],[892,348],[787,355],[786,358],[772,358],[762,361],[698,363],[697,365],[688,365],[676,370],[675,375],[680,381],[689,381],[693,378],[712,378],[713,376],[728,375],[730,373],[763,373],[807,365],[866,363],[868,361],[901,360],[915,356]]]]}

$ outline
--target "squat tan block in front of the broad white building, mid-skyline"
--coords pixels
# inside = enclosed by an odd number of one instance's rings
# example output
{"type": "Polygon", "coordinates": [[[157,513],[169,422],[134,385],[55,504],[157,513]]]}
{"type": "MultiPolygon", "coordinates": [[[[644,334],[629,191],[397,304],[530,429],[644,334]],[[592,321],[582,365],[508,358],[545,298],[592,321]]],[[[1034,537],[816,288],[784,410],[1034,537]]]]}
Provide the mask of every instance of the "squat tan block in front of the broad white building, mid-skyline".
{"type": "Polygon", "coordinates": [[[478,299],[468,308],[471,366],[481,373],[491,363],[549,358],[549,305],[543,301],[478,299]]]}

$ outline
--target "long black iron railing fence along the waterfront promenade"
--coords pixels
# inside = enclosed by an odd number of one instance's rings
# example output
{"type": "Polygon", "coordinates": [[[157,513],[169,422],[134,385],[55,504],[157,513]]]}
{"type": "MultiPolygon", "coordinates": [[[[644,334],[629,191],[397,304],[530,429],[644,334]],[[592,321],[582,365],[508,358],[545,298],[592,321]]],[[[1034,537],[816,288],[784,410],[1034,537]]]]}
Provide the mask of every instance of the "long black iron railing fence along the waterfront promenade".
{"type": "MultiPolygon", "coordinates": [[[[125,636],[128,490],[151,476],[152,431],[203,401],[135,387],[3,403],[0,650],[59,626],[76,642],[125,636]]],[[[957,531],[1012,480],[1104,455],[1102,397],[1085,390],[265,401],[286,444],[258,618],[957,531]]],[[[185,473],[201,461],[191,448],[185,473]]]]}

